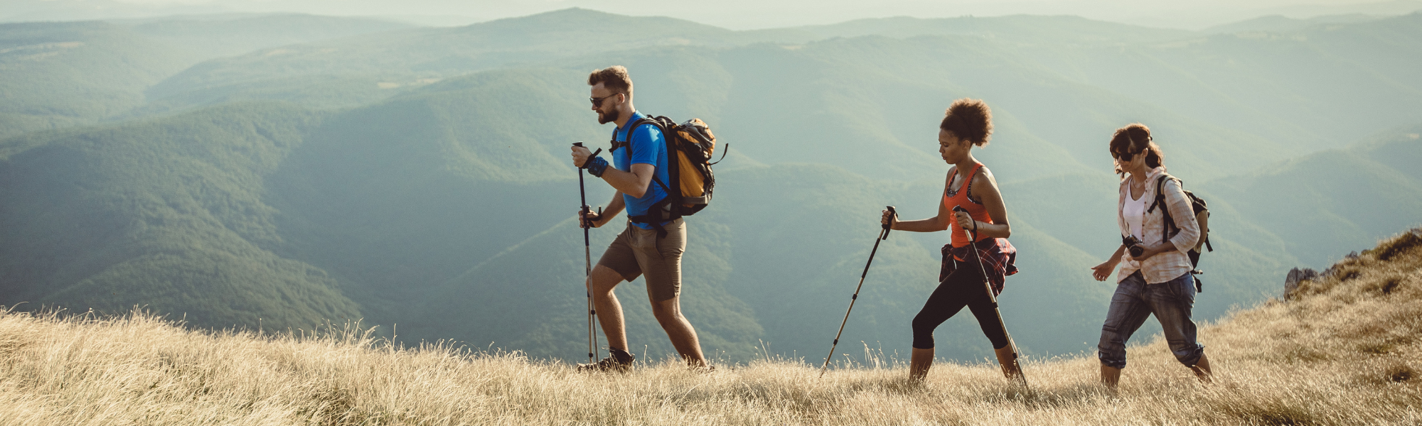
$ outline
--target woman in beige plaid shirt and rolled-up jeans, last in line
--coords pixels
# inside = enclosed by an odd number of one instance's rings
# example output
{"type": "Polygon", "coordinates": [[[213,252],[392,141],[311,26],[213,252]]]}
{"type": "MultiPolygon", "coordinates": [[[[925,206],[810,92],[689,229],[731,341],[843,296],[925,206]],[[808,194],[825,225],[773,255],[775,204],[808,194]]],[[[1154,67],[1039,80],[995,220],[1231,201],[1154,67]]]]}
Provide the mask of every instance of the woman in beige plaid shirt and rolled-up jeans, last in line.
{"type": "Polygon", "coordinates": [[[1210,382],[1210,362],[1204,345],[1196,341],[1190,308],[1194,305],[1194,275],[1186,254],[1200,239],[1190,199],[1180,180],[1165,172],[1160,146],[1150,138],[1150,128],[1132,124],[1116,129],[1111,138],[1111,156],[1122,175],[1116,224],[1123,243],[1105,263],[1092,267],[1092,277],[1105,281],[1116,274],[1116,293],[1111,297],[1106,322],[1096,345],[1101,358],[1101,382],[1115,389],[1121,369],[1126,368],[1126,339],[1155,314],[1175,358],[1190,368],[1202,382],[1210,382]],[[1156,185],[1165,179],[1163,185],[1156,185]],[[1158,200],[1156,187],[1165,195],[1158,200]],[[1166,234],[1166,212],[1176,231],[1166,234]],[[1140,254],[1128,254],[1129,244],[1140,254]]]}

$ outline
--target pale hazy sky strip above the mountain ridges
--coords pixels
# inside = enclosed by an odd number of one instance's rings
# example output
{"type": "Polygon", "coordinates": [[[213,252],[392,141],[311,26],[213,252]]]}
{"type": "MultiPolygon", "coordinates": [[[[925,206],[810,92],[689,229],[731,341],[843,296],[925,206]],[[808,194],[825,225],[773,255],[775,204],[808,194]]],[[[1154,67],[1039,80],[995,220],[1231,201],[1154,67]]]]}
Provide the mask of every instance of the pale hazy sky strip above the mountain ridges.
{"type": "Polygon", "coordinates": [[[299,11],[405,16],[429,24],[468,24],[584,7],[633,16],[671,16],[734,28],[829,24],[866,17],[1074,14],[1155,27],[1203,28],[1264,14],[1402,14],[1422,0],[0,0],[0,18],[105,18],[212,11],[299,11]],[[73,14],[70,17],[68,14],[73,14]]]}

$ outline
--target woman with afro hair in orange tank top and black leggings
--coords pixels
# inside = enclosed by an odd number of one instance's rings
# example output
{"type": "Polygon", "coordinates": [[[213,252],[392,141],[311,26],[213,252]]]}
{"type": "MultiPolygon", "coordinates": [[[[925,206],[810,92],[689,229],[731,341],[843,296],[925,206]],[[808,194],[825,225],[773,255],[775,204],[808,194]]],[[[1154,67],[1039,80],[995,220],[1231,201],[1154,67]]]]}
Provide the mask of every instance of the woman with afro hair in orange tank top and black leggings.
{"type": "Polygon", "coordinates": [[[1003,291],[1005,277],[1017,273],[1017,250],[1007,243],[1012,227],[1007,223],[1007,206],[997,179],[973,158],[973,146],[987,145],[991,135],[993,114],[985,102],[967,98],[954,101],[939,124],[939,155],[951,166],[943,180],[941,200],[936,200],[939,214],[903,222],[890,210],[884,210],[882,216],[882,223],[894,230],[931,233],[951,229],[951,244],[943,246],[939,287],[913,318],[909,379],[914,382],[921,382],[933,365],[933,329],[963,307],[977,317],[983,334],[993,342],[1003,375],[1012,379],[1022,373],[993,298],[988,297],[988,285],[984,285],[984,280],[990,283],[995,297],[1003,291]],[[954,207],[961,209],[954,212],[954,207]]]}

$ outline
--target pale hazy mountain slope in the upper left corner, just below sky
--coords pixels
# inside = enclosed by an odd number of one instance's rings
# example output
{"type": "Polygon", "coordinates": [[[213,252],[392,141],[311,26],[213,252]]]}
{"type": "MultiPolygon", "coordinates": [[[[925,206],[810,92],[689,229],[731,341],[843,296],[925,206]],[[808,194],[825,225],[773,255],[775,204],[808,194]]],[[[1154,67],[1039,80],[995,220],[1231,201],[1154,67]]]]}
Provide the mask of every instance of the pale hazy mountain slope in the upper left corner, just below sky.
{"type": "Polygon", "coordinates": [[[165,111],[144,92],[215,57],[404,27],[299,14],[0,24],[0,138],[165,111]]]}

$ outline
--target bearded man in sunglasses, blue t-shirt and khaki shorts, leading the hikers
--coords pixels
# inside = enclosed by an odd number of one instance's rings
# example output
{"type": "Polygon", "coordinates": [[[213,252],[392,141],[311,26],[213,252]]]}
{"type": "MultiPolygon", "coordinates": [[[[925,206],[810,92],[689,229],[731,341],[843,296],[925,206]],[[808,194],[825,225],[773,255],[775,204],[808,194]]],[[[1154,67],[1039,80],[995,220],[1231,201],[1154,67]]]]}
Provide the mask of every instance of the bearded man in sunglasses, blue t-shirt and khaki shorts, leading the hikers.
{"type": "MultiPolygon", "coordinates": [[[[621,65],[596,70],[587,75],[592,87],[593,111],[599,124],[613,122],[613,163],[592,156],[587,148],[573,146],[573,165],[587,169],[602,178],[617,193],[607,203],[607,210],[587,212],[586,220],[593,227],[602,227],[619,212],[627,209],[627,227],[617,236],[603,257],[597,260],[587,290],[593,294],[593,305],[602,312],[599,322],[607,335],[610,355],[597,364],[580,365],[587,371],[629,371],[633,355],[627,352],[627,332],[623,322],[621,304],[613,294],[623,280],[637,275],[647,277],[647,295],[651,298],[651,312],[667,331],[677,354],[693,368],[707,368],[701,355],[701,344],[691,322],[681,315],[681,253],[687,247],[687,227],[681,219],[664,220],[661,209],[654,207],[667,196],[667,143],[661,129],[653,124],[637,124],[643,115],[631,105],[633,87],[627,68],[621,65]],[[631,129],[630,126],[636,126],[631,129]],[[656,180],[656,182],[653,182],[656,180]]],[[[582,212],[579,213],[582,214],[582,212]]]]}

